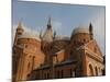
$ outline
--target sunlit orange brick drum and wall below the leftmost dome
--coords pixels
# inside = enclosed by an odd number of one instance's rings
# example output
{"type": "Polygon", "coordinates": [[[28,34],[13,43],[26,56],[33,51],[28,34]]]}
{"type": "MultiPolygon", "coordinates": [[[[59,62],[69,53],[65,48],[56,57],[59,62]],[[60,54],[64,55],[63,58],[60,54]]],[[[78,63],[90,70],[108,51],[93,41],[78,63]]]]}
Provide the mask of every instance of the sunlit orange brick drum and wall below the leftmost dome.
{"type": "MultiPolygon", "coordinates": [[[[44,63],[45,55],[41,51],[41,42],[34,38],[19,38],[18,46],[22,48],[16,72],[18,80],[26,80],[28,74],[44,63]]],[[[20,52],[19,52],[20,54],[20,52]]]]}

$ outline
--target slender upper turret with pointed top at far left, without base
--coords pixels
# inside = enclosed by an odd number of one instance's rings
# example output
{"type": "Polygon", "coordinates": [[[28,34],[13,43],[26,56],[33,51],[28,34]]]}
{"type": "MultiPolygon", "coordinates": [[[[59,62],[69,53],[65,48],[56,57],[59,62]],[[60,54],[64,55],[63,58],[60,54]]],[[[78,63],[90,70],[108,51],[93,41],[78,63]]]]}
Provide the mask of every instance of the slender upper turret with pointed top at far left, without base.
{"type": "Polygon", "coordinates": [[[16,33],[15,33],[15,37],[14,37],[14,45],[16,45],[18,42],[18,36],[22,35],[24,32],[21,22],[19,22],[19,25],[16,27],[16,33]]]}

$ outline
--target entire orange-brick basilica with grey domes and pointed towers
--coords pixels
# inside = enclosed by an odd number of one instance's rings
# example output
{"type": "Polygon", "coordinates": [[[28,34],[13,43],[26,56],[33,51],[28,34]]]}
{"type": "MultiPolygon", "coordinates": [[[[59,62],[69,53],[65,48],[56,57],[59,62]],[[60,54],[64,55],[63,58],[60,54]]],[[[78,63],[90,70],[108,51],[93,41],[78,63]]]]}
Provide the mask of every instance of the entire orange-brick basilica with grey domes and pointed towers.
{"type": "Polygon", "coordinates": [[[76,27],[69,37],[53,31],[51,17],[40,35],[18,24],[12,47],[12,81],[105,75],[105,59],[94,26],[76,27]]]}

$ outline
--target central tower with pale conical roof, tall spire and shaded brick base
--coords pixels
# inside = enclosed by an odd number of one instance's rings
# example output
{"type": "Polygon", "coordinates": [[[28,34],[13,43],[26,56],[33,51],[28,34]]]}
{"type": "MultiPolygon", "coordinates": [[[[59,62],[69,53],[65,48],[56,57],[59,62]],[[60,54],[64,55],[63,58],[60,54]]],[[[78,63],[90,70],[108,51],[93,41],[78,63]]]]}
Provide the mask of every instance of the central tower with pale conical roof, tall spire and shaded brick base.
{"type": "Polygon", "coordinates": [[[45,56],[45,63],[52,63],[52,54],[50,50],[52,49],[54,33],[52,30],[51,17],[48,17],[48,21],[46,24],[46,31],[44,32],[43,35],[41,33],[40,37],[42,39],[42,47],[41,48],[44,51],[44,54],[46,55],[45,56]]]}

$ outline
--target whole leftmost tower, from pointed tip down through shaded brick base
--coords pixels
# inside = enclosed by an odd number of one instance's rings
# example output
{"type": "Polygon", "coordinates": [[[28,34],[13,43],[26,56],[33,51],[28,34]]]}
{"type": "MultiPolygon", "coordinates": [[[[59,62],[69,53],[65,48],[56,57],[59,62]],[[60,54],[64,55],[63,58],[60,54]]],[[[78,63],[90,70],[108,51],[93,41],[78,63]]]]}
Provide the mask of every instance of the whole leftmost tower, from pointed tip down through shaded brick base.
{"type": "Polygon", "coordinates": [[[16,72],[18,72],[18,66],[19,66],[19,56],[20,54],[18,52],[18,37],[20,35],[23,34],[23,27],[22,27],[22,24],[21,22],[19,23],[18,27],[16,27],[16,32],[15,32],[15,36],[14,36],[14,43],[13,43],[13,54],[12,54],[12,69],[13,69],[13,81],[12,82],[15,82],[15,79],[16,79],[16,72]]]}

